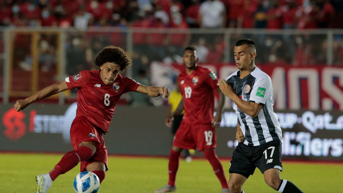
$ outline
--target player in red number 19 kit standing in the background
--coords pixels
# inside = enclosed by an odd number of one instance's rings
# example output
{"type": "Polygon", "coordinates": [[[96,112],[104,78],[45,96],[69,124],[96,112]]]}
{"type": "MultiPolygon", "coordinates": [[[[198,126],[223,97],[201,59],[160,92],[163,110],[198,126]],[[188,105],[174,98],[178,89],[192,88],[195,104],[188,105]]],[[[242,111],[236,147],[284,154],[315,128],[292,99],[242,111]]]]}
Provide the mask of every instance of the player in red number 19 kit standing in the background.
{"type": "Polygon", "coordinates": [[[167,118],[167,126],[171,126],[173,117],[178,116],[182,110],[185,110],[185,113],[170,150],[168,184],[157,189],[155,193],[176,190],[175,178],[180,152],[182,149],[196,148],[203,151],[206,159],[211,163],[214,173],[222,184],[222,193],[228,192],[223,166],[214,150],[216,148],[215,127],[219,126],[222,120],[224,94],[219,89],[216,75],[209,69],[197,65],[198,56],[195,48],[187,47],[182,61],[186,67],[186,70],[178,77],[182,100],[173,116],[167,118]],[[215,117],[213,117],[214,91],[219,93],[219,105],[215,117]]]}

